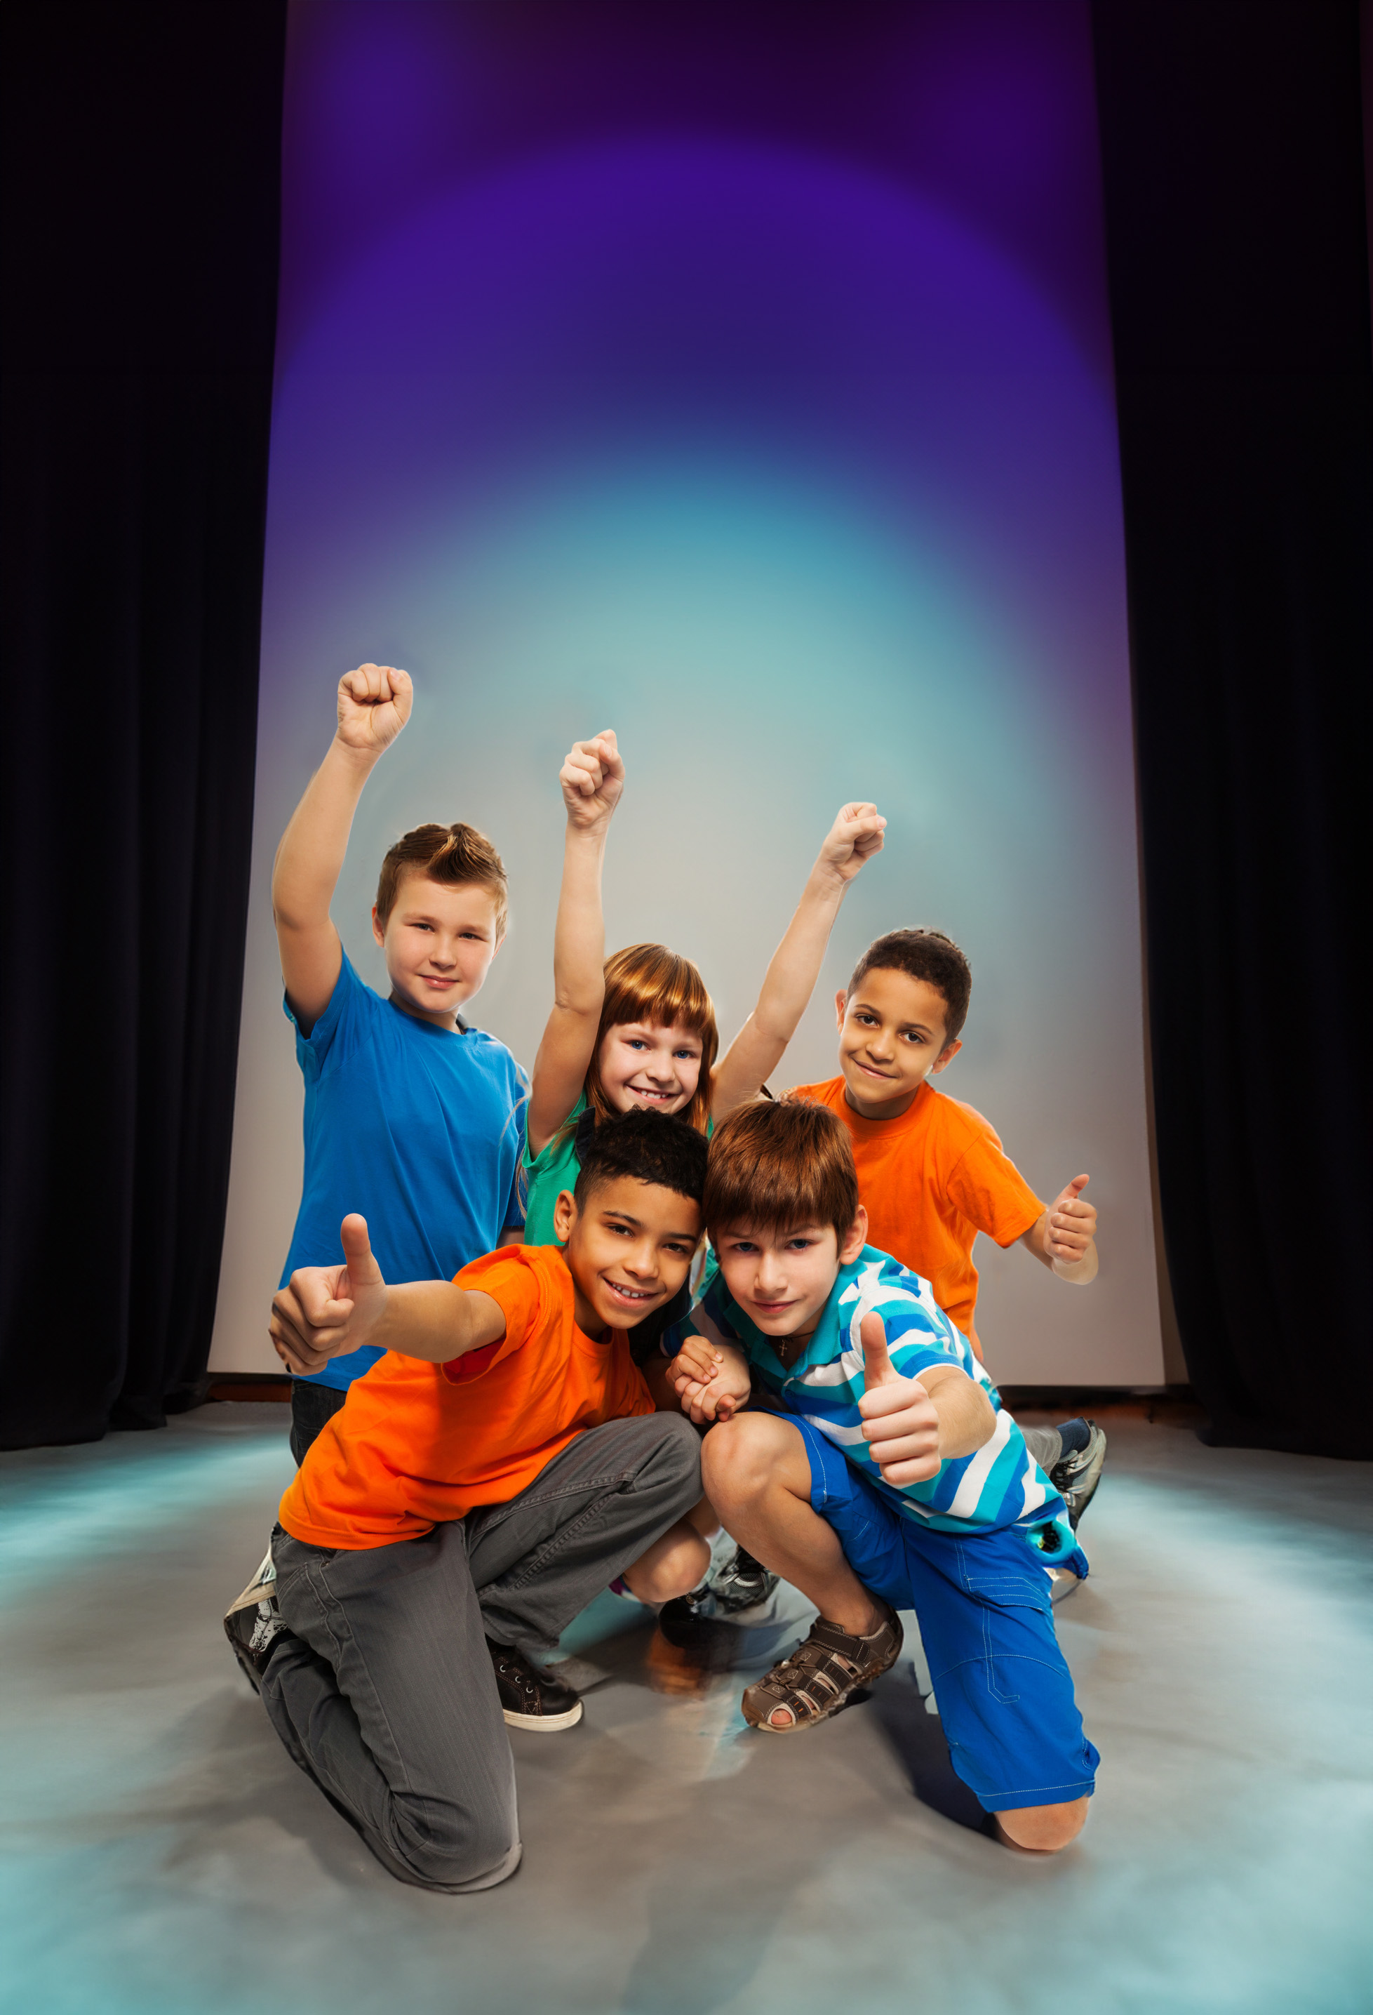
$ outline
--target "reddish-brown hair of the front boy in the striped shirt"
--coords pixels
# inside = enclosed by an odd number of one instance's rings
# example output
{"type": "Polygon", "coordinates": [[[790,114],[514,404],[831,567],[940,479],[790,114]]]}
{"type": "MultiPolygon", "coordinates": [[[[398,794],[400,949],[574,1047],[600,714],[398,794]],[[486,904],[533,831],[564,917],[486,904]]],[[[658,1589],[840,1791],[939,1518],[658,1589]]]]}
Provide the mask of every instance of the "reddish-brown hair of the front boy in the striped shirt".
{"type": "Polygon", "coordinates": [[[858,1169],[844,1120],[811,1098],[735,1106],[715,1128],[701,1209],[713,1239],[729,1225],[833,1225],[844,1243],[858,1217],[858,1169]]]}

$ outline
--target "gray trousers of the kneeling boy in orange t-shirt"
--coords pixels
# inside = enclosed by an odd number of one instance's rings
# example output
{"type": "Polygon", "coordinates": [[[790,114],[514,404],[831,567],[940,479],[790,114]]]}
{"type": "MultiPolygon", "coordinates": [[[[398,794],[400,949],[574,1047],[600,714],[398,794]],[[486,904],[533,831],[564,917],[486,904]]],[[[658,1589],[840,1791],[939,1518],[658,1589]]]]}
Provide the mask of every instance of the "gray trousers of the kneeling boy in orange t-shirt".
{"type": "Polygon", "coordinates": [[[517,1497],[360,1552],[272,1535],[278,1638],[262,1699],[292,1759],[419,1888],[519,1866],[515,1765],[485,1640],[546,1652],[701,1497],[678,1413],[592,1427],[517,1497]]]}

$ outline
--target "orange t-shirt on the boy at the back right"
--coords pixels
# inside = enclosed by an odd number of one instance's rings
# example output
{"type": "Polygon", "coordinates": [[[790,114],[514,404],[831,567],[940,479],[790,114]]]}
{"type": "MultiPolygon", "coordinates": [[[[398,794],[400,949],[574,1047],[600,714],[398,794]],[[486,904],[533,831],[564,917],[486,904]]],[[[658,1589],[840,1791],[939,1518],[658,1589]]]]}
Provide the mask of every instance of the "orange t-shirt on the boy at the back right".
{"type": "Polygon", "coordinates": [[[976,1267],[972,1239],[984,1231],[1015,1245],[1045,1209],[1005,1153],[990,1122],[926,1082],[896,1120],[866,1120],[844,1096],[844,1078],[797,1084],[837,1112],[854,1143],[868,1243],[922,1273],[948,1320],[982,1346],[972,1328],[976,1267]]]}

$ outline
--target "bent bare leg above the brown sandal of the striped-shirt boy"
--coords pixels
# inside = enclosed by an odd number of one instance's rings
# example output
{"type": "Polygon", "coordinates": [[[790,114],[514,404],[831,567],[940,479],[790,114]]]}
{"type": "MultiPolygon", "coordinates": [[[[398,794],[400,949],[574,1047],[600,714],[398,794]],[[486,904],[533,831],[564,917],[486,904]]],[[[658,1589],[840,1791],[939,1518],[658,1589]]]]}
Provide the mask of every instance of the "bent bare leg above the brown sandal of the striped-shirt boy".
{"type": "Polygon", "coordinates": [[[711,1503],[733,1539],[854,1636],[882,1628],[884,1610],[844,1558],[833,1529],[811,1511],[805,1443],[775,1413],[721,1421],[701,1443],[711,1503]]]}

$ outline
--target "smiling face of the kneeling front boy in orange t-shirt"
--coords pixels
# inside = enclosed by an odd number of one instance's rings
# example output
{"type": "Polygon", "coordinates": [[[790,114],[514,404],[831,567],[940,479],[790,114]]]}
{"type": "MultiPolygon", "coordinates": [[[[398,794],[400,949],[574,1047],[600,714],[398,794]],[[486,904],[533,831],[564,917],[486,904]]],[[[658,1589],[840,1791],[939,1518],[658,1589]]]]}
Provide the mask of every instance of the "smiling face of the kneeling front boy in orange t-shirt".
{"type": "Polygon", "coordinates": [[[576,1322],[588,1336],[632,1330],[686,1282],[701,1243],[701,1205],[662,1183],[618,1175],[578,1207],[570,1189],[554,1205],[576,1288],[576,1322]]]}

